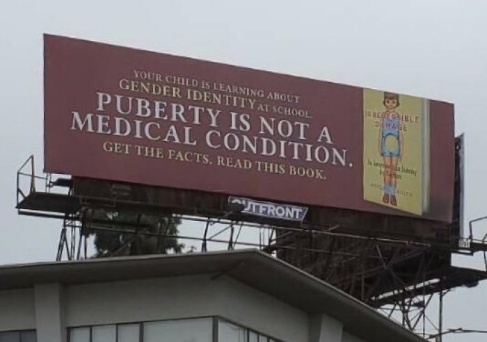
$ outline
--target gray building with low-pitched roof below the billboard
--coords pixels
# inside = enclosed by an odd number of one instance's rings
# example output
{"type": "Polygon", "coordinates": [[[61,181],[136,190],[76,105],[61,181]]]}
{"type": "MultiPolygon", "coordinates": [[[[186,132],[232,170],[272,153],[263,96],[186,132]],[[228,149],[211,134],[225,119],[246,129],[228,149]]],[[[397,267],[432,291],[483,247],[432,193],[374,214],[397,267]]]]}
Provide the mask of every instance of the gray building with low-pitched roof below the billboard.
{"type": "Polygon", "coordinates": [[[257,250],[0,267],[0,342],[419,342],[257,250]]]}

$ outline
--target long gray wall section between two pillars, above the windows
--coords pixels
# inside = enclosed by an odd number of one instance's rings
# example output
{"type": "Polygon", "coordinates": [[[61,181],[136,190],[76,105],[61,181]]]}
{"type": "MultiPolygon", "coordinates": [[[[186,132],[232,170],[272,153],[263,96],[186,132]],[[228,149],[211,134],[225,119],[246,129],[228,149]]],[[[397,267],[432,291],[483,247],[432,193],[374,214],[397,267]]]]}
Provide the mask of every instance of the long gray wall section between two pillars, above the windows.
{"type": "Polygon", "coordinates": [[[308,341],[308,314],[227,277],[68,286],[65,302],[67,327],[222,316],[278,339],[308,341]]]}

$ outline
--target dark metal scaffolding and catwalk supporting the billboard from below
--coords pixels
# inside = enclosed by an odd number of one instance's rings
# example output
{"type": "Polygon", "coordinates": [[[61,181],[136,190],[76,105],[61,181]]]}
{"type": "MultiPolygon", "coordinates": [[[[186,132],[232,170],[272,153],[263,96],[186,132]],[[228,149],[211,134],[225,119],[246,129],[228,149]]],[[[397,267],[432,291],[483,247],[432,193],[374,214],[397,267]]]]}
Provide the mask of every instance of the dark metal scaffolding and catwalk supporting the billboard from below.
{"type": "Polygon", "coordinates": [[[191,196],[177,205],[181,201],[174,190],[144,189],[113,181],[39,176],[31,156],[17,172],[17,211],[62,221],[58,261],[89,258],[88,239],[94,234],[123,236],[111,256],[163,253],[168,239],[195,241],[200,247],[191,251],[201,252],[209,250],[209,244],[227,250],[259,248],[435,341],[452,332],[442,325],[445,295],[487,279],[487,234],[475,238],[473,227],[484,218],[470,222],[467,238],[444,234],[418,239],[390,232],[364,234],[337,222],[263,220],[242,213],[243,208],[228,204],[225,196],[201,197],[200,202],[191,196]],[[193,236],[171,233],[174,220],[191,221],[198,228],[193,236]],[[255,231],[253,238],[244,238],[248,234],[242,231],[250,230],[255,231]],[[141,249],[142,239],[152,246],[149,251],[141,249]],[[452,266],[452,254],[475,253],[484,254],[485,270],[452,266]]]}

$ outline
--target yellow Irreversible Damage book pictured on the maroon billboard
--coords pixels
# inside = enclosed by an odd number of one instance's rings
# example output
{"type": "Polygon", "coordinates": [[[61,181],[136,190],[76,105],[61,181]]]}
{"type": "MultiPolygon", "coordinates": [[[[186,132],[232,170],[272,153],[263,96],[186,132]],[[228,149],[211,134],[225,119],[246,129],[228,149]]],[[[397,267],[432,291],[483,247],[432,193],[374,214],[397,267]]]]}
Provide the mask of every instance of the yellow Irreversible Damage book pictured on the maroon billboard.
{"type": "Polygon", "coordinates": [[[364,89],[364,199],[422,215],[429,206],[429,100],[364,89]]]}

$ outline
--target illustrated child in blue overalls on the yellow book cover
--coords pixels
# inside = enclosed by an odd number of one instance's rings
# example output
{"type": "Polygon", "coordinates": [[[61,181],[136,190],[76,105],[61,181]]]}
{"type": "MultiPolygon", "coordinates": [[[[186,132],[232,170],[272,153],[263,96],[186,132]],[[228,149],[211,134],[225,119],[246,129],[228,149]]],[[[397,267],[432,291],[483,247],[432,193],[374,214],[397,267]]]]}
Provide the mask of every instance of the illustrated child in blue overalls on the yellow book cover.
{"type": "Polygon", "coordinates": [[[404,142],[401,135],[401,115],[396,112],[399,106],[399,95],[384,92],[383,105],[385,112],[381,115],[379,127],[379,153],[384,162],[384,194],[382,202],[397,206],[397,163],[404,153],[404,142]]]}

